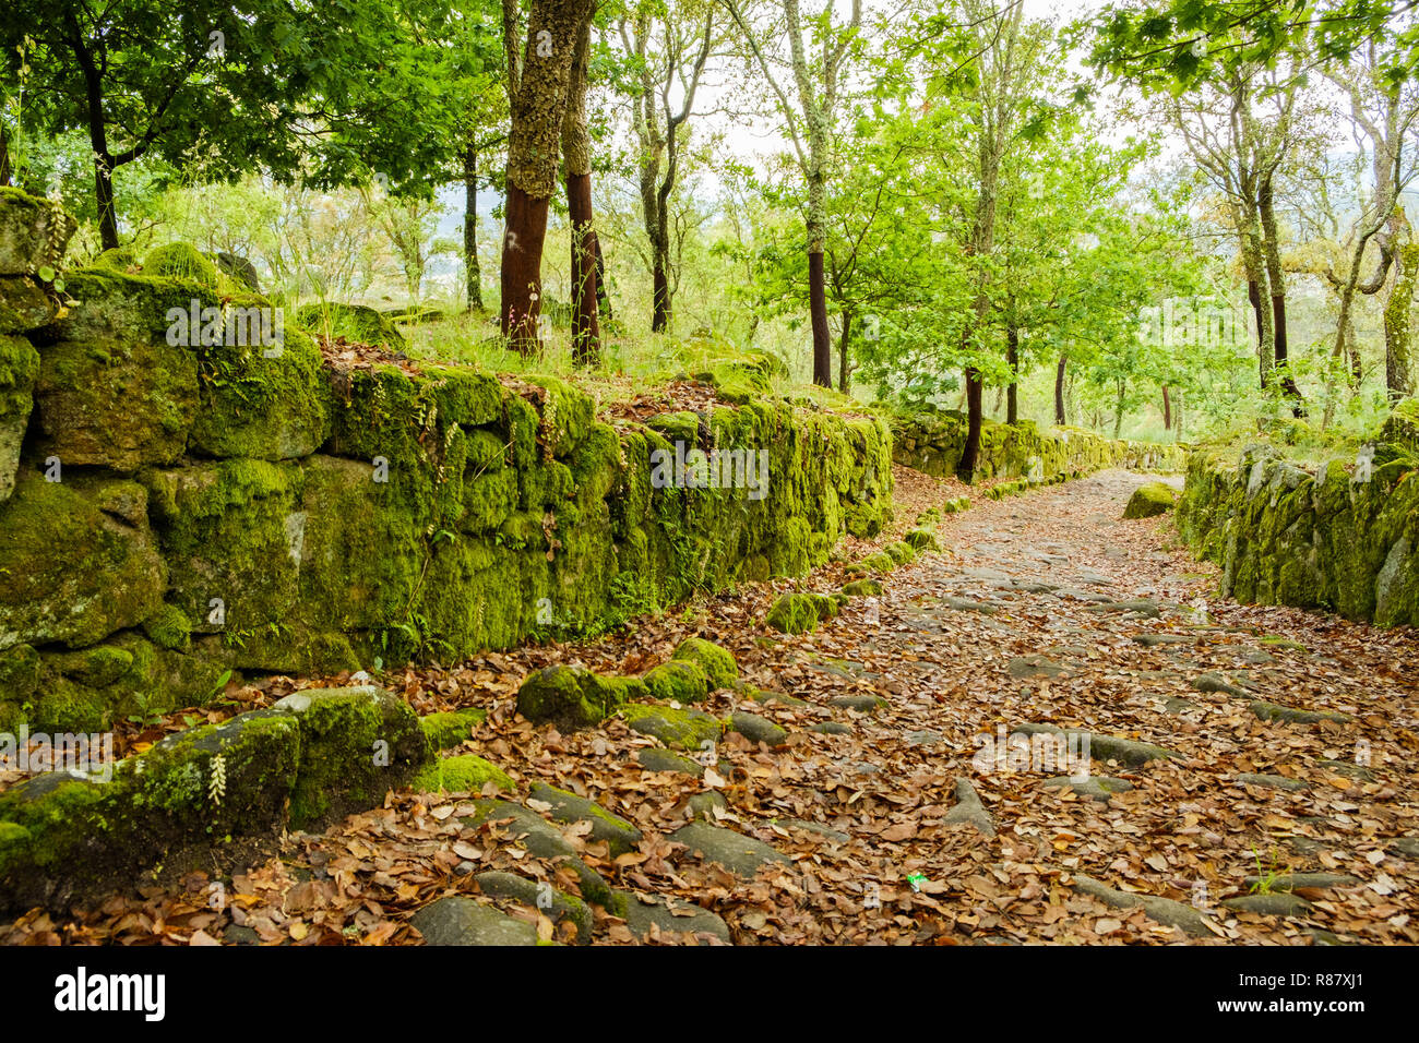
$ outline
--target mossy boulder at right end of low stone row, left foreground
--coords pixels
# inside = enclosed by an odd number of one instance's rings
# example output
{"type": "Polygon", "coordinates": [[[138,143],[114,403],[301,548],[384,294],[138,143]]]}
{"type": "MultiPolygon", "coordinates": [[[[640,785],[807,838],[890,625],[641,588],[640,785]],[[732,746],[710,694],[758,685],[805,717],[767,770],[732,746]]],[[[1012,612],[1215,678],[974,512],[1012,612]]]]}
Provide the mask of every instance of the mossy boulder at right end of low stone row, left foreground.
{"type": "Polygon", "coordinates": [[[377,806],[429,761],[419,715],[383,688],[311,688],[272,710],[301,725],[301,772],[291,793],[297,829],[377,806]]]}

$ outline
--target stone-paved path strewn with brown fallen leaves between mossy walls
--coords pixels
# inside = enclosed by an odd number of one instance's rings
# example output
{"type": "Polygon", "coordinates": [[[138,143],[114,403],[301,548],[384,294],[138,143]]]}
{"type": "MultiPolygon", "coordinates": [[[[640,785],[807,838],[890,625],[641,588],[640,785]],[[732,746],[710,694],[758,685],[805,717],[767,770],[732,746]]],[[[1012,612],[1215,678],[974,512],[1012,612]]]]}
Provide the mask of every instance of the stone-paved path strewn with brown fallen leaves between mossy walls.
{"type": "MultiPolygon", "coordinates": [[[[1121,521],[1144,481],[981,498],[941,524],[945,551],[800,637],[759,623],[761,587],[623,640],[430,671],[419,684],[491,704],[461,752],[512,775],[529,824],[471,796],[396,795],[238,871],[223,910],[200,877],[26,918],[10,939],[399,942],[420,908],[444,941],[507,928],[431,905],[467,895],[563,941],[1419,941],[1419,640],[1210,599],[1215,570],[1169,518],[1121,521]],[[701,708],[741,717],[708,769],[646,754],[622,721],[562,736],[514,715],[534,666],[641,670],[687,633],[789,697],[714,694],[701,708]],[[1010,739],[1022,727],[1033,738],[1010,739]],[[744,738],[761,732],[778,745],[744,738]],[[507,871],[583,895],[599,878],[630,905],[539,911],[482,876],[507,871]]],[[[834,565],[803,589],[840,585],[834,565]]]]}

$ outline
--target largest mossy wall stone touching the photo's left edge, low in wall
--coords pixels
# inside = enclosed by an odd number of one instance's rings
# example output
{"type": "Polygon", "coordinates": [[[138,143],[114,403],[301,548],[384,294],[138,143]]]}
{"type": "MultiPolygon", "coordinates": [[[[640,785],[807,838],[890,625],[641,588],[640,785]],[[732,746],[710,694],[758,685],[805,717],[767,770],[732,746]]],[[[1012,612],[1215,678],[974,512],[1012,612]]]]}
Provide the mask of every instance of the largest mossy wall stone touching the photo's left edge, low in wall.
{"type": "Polygon", "coordinates": [[[94,644],[162,605],[165,566],[131,481],[21,471],[0,504],[0,650],[94,644]]]}

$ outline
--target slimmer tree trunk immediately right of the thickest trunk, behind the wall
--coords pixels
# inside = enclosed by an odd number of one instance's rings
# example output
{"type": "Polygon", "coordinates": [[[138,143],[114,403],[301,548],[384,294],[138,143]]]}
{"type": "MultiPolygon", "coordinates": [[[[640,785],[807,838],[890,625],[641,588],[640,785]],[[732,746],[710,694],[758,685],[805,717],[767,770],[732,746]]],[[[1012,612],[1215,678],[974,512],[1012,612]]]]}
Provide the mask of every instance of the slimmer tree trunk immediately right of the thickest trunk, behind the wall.
{"type": "Polygon", "coordinates": [[[566,165],[566,210],[572,220],[572,360],[600,360],[602,329],[596,299],[596,227],[592,220],[592,139],[586,129],[586,68],[592,20],[578,30],[562,118],[562,162],[566,165]]]}

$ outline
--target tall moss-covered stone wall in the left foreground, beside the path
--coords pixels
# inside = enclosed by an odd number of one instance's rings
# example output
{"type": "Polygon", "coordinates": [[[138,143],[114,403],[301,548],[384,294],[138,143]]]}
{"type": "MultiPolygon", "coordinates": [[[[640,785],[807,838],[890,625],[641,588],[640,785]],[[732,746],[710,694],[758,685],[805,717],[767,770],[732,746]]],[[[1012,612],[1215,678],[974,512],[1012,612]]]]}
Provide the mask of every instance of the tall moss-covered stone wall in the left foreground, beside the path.
{"type": "Polygon", "coordinates": [[[762,359],[711,366],[736,406],[612,427],[553,377],[336,368],[297,322],[277,351],[170,336],[270,302],[182,251],[153,267],[197,278],[98,264],[53,292],[7,260],[50,224],[0,193],[0,729],[596,631],[890,517],[887,426],[771,399],[762,359]],[[677,443],[765,454],[765,494],[654,487],[677,443]]]}

